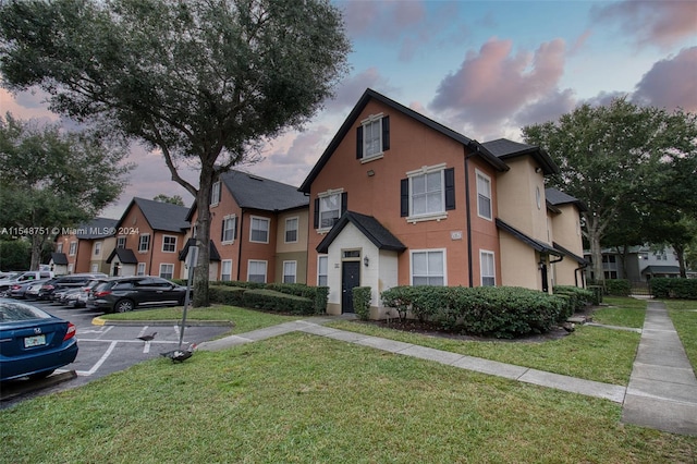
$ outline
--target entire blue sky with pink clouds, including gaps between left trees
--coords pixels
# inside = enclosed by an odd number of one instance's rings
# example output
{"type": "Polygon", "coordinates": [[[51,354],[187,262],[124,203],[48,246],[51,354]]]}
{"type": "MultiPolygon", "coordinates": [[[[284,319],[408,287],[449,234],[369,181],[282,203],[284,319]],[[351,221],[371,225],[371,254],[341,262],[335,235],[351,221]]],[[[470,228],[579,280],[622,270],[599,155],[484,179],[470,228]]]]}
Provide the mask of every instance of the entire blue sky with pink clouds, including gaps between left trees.
{"type": "MultiPolygon", "coordinates": [[[[366,88],[469,138],[521,141],[525,125],[625,97],[697,112],[697,1],[333,1],[353,44],[350,74],[305,125],[268,141],[239,169],[299,186],[366,88]]],[[[58,120],[40,91],[0,88],[0,112],[58,120]]],[[[103,217],[134,196],[193,197],[163,158],[138,146],[136,168],[103,217]]],[[[197,184],[197,173],[183,176],[197,184]]]]}

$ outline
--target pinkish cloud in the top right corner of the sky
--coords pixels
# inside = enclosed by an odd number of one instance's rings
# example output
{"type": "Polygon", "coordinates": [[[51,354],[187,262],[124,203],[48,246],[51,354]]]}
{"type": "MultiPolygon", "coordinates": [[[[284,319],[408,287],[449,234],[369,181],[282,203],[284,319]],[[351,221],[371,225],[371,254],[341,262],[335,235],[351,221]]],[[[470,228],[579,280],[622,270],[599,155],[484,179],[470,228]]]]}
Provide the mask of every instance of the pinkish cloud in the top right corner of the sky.
{"type": "Polygon", "coordinates": [[[591,16],[599,22],[619,22],[637,45],[669,47],[697,32],[697,7],[693,1],[622,0],[595,7],[591,16]]]}

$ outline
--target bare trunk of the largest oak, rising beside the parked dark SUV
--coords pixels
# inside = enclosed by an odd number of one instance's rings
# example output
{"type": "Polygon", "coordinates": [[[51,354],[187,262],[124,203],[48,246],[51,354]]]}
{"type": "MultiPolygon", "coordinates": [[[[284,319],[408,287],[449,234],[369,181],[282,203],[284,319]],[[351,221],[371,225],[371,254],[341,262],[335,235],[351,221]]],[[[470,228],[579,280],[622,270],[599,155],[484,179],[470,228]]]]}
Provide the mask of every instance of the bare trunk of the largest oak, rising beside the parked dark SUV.
{"type": "Polygon", "coordinates": [[[212,167],[201,168],[199,187],[196,195],[196,246],[198,246],[198,262],[194,269],[194,307],[210,306],[208,298],[208,271],[210,268],[210,192],[213,184],[212,167]]]}

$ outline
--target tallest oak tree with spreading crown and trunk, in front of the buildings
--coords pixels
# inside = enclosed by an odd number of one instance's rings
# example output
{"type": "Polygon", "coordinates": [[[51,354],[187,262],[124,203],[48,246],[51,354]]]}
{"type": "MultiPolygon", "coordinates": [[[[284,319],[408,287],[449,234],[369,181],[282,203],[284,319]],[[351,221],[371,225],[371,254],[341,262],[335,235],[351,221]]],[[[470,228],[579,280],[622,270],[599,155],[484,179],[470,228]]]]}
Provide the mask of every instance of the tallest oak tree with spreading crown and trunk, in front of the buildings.
{"type": "Polygon", "coordinates": [[[220,172],[301,126],[346,71],[350,42],[326,0],[9,1],[0,71],[51,108],[101,120],[161,151],[196,198],[194,305],[208,304],[210,193],[220,172]],[[194,160],[198,186],[180,163],[194,160]]]}

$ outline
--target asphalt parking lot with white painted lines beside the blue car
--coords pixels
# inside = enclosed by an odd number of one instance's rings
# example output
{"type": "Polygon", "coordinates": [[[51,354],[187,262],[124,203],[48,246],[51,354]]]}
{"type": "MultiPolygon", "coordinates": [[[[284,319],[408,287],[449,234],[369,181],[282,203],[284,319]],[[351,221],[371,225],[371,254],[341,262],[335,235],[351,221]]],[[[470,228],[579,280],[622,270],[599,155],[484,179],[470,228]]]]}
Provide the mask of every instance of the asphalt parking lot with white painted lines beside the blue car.
{"type": "MultiPolygon", "coordinates": [[[[174,350],[179,344],[180,328],[176,325],[158,325],[156,327],[146,325],[94,326],[93,319],[101,316],[101,312],[68,308],[45,302],[29,303],[54,316],[70,320],[76,326],[80,347],[77,358],[73,364],[53,374],[57,376],[74,370],[76,377],[54,384],[51,384],[53,382],[50,381],[44,383],[29,380],[4,382],[2,383],[3,400],[0,402],[0,408],[9,407],[37,395],[83,386],[109,374],[126,369],[134,364],[158,357],[160,353],[174,350]],[[152,332],[157,332],[157,334],[151,341],[144,342],[138,339],[140,335],[152,332]],[[44,387],[44,384],[48,384],[48,387],[44,387]],[[37,387],[42,388],[36,390],[37,387]]],[[[187,326],[184,329],[183,346],[187,346],[188,343],[211,340],[229,331],[230,327],[187,326]]]]}

